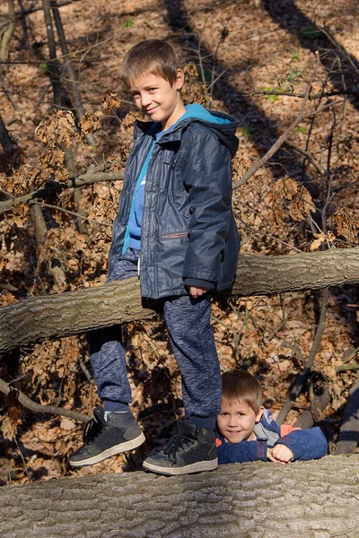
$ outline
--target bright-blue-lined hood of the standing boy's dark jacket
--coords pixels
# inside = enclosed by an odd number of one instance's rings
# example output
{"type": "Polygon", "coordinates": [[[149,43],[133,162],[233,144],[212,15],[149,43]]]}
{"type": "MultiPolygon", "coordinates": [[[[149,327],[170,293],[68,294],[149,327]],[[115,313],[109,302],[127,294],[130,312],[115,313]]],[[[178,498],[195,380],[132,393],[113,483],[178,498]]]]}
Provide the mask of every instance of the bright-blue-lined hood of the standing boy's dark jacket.
{"type": "MultiPolygon", "coordinates": [[[[239,120],[223,112],[207,110],[198,104],[187,105],[185,108],[185,114],[180,117],[174,126],[171,126],[168,131],[162,134],[161,140],[166,140],[167,136],[180,138],[181,131],[185,127],[191,123],[198,122],[209,127],[218,136],[221,142],[228,147],[233,158],[239,143],[235,135],[237,126],[240,123],[239,120]]],[[[158,122],[138,122],[135,128],[135,138],[141,134],[149,134],[150,130],[153,135],[158,134],[161,131],[161,124],[158,122]]]]}

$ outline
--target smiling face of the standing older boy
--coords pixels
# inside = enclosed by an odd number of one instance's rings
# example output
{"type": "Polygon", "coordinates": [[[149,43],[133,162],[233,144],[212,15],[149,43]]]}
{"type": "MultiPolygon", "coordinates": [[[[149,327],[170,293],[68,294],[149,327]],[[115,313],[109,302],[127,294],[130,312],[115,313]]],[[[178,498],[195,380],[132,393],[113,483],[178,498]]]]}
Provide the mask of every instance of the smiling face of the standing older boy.
{"type": "Polygon", "coordinates": [[[144,74],[131,84],[130,91],[136,107],[153,121],[160,121],[165,131],[186,112],[180,98],[183,82],[184,74],[180,69],[172,86],[157,74],[144,74]]]}

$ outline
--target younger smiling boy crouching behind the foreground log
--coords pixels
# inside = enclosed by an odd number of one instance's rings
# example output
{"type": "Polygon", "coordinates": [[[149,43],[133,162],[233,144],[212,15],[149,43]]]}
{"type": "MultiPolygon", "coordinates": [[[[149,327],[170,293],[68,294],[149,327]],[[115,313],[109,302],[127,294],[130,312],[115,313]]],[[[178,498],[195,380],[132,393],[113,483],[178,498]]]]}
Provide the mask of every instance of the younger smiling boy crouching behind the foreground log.
{"type": "Polygon", "coordinates": [[[222,381],[216,439],[219,464],[256,460],[288,464],[327,454],[328,443],[320,428],[301,430],[276,424],[262,405],[257,379],[249,372],[225,372],[222,381]]]}

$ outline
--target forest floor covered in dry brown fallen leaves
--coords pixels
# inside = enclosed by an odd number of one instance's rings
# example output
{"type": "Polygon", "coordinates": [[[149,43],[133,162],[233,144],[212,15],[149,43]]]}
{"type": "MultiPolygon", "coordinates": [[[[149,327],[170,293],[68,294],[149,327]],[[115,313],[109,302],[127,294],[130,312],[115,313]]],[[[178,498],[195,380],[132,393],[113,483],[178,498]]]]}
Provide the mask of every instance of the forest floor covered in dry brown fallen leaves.
{"type": "MultiPolygon", "coordinates": [[[[43,152],[43,143],[34,137],[34,130],[51,108],[52,91],[41,4],[24,0],[22,5],[39,7],[39,11],[17,23],[10,64],[4,69],[4,81],[15,107],[4,91],[0,94],[0,107],[4,124],[22,149],[22,162],[29,171],[38,166],[43,152]]],[[[3,3],[1,24],[6,23],[6,13],[3,3]]],[[[195,99],[240,119],[234,182],[293,123],[315,69],[312,95],[336,92],[341,84],[341,95],[333,93],[308,100],[308,109],[323,105],[328,108],[313,121],[303,119],[289,138],[292,146],[283,146],[266,168],[259,169],[245,185],[233,191],[233,208],[241,230],[242,254],[310,251],[323,241],[336,247],[358,244],[359,8],[355,0],[97,0],[86,4],[80,0],[63,5],[60,13],[85,110],[101,111],[101,101],[109,93],[117,93],[121,100],[115,112],[103,113],[101,129],[95,133],[96,146],[76,145],[75,166],[81,172],[92,163],[127,154],[131,121],[126,115],[133,105],[118,78],[118,68],[127,50],[142,39],[169,39],[184,65],[195,63],[198,81],[206,85],[205,94],[197,83],[195,99]],[[316,67],[317,49],[320,63],[316,67]],[[340,59],[335,59],[338,56],[333,56],[331,50],[340,52],[340,59]],[[263,94],[266,91],[278,95],[263,94]],[[293,147],[304,149],[318,166],[304,160],[293,147]],[[295,218],[290,199],[275,199],[275,182],[284,177],[305,186],[318,207],[326,188],[330,199],[328,221],[322,215],[317,221],[305,214],[295,218]],[[338,224],[334,217],[343,206],[350,221],[346,226],[343,221],[338,224]],[[352,230],[349,239],[348,228],[352,230]]],[[[64,100],[70,102],[66,80],[63,92],[64,100]]],[[[1,178],[3,191],[22,192],[7,173],[1,178]]],[[[104,283],[111,222],[117,213],[120,188],[120,182],[113,182],[83,189],[81,205],[93,220],[88,223],[90,239],[75,230],[71,216],[54,216],[48,208],[48,220],[53,218],[55,224],[49,227],[40,253],[33,247],[31,223],[19,221],[18,215],[5,214],[0,230],[4,236],[11,230],[12,235],[7,235],[10,239],[1,245],[4,282],[11,282],[22,297],[104,283]]],[[[57,204],[71,208],[70,198],[62,195],[57,204]]],[[[215,301],[213,326],[221,368],[244,368],[256,375],[275,415],[311,351],[321,295],[308,291],[215,301]]],[[[19,299],[16,291],[13,298],[19,299]]],[[[3,299],[3,304],[12,302],[9,293],[3,299]]],[[[357,360],[358,300],[355,287],[330,291],[311,386],[306,387],[286,419],[293,424],[302,409],[310,405],[311,390],[327,386],[331,401],[316,419],[328,438],[330,452],[335,451],[346,401],[356,378],[355,369],[337,369],[357,360]]],[[[163,321],[127,325],[123,333],[133,390],[132,409],[144,428],[144,446],[131,455],[74,470],[68,465],[68,456],[81,443],[81,425],[72,419],[49,418],[45,413],[22,409],[16,415],[12,435],[8,403],[0,395],[4,434],[0,438],[0,484],[137,470],[144,457],[170,437],[183,408],[179,402],[180,377],[163,321]]],[[[17,388],[41,404],[89,415],[95,405],[101,404],[84,336],[36,344],[3,359],[0,377],[8,383],[16,380],[17,388]]]]}

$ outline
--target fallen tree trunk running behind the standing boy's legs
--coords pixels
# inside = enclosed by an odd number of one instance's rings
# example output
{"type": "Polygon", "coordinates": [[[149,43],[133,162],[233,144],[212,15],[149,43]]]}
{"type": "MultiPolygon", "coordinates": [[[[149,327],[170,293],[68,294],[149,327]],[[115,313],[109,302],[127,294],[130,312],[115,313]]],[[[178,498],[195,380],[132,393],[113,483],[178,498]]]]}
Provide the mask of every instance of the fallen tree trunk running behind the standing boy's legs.
{"type": "MultiPolygon", "coordinates": [[[[287,256],[241,256],[232,296],[319,290],[359,282],[359,247],[287,256]]],[[[148,319],[135,279],[26,299],[0,309],[0,352],[19,345],[148,319]]]]}

